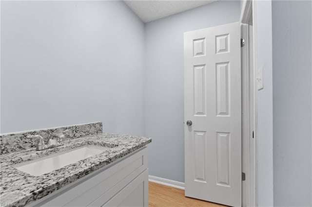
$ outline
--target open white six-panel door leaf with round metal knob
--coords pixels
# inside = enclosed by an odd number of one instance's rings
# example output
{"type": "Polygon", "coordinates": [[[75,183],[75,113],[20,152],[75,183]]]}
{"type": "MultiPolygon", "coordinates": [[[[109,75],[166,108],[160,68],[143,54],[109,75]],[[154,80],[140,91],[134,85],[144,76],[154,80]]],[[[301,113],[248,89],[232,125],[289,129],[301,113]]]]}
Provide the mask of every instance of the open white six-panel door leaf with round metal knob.
{"type": "Polygon", "coordinates": [[[184,33],[184,118],[185,196],[241,206],[239,22],[184,33]]]}

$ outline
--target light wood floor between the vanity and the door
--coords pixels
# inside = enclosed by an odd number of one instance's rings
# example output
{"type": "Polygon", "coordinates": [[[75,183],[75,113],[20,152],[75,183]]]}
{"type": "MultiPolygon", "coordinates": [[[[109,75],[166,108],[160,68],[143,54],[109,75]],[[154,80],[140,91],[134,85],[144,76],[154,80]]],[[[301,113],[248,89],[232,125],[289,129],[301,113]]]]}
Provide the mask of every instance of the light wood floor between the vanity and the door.
{"type": "Polygon", "coordinates": [[[149,182],[149,207],[225,207],[184,196],[184,190],[149,182]]]}

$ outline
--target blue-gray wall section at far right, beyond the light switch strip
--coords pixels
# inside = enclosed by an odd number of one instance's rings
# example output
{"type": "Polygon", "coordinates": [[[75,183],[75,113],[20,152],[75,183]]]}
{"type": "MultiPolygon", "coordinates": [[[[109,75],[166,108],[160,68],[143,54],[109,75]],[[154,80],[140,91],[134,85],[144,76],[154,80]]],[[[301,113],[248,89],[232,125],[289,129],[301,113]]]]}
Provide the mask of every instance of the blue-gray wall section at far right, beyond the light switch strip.
{"type": "Polygon", "coordinates": [[[272,10],[274,206],[312,206],[312,5],[272,10]]]}

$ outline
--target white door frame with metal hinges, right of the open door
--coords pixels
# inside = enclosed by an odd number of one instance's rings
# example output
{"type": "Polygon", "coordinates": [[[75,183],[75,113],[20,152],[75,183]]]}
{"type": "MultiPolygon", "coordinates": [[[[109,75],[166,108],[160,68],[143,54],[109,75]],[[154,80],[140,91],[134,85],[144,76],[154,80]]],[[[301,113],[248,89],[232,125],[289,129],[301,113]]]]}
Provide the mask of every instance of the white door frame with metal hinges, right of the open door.
{"type": "Polygon", "coordinates": [[[256,92],[256,36],[255,1],[244,0],[240,16],[241,38],[245,45],[241,48],[242,67],[242,206],[257,206],[257,92],[256,92]],[[250,34],[252,25],[252,34],[250,34]],[[251,35],[249,38],[249,35],[251,35]],[[250,44],[251,43],[251,44],[250,44]],[[251,49],[250,49],[251,48],[251,49]],[[252,79],[249,78],[252,74],[252,79]],[[250,93],[250,89],[251,93],[250,93]]]}

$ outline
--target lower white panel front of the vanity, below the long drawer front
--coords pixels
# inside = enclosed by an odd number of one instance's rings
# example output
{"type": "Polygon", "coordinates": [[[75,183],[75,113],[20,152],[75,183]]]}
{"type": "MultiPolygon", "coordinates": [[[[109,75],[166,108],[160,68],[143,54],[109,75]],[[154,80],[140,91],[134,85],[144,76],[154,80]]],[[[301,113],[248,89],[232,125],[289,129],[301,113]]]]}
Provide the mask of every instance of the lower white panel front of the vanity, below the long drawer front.
{"type": "MultiPolygon", "coordinates": [[[[111,192],[111,190],[109,191],[111,192]]],[[[122,190],[111,196],[102,195],[89,207],[147,207],[148,206],[148,170],[139,174],[122,190]],[[110,197],[110,199],[107,199],[110,197]]]]}

